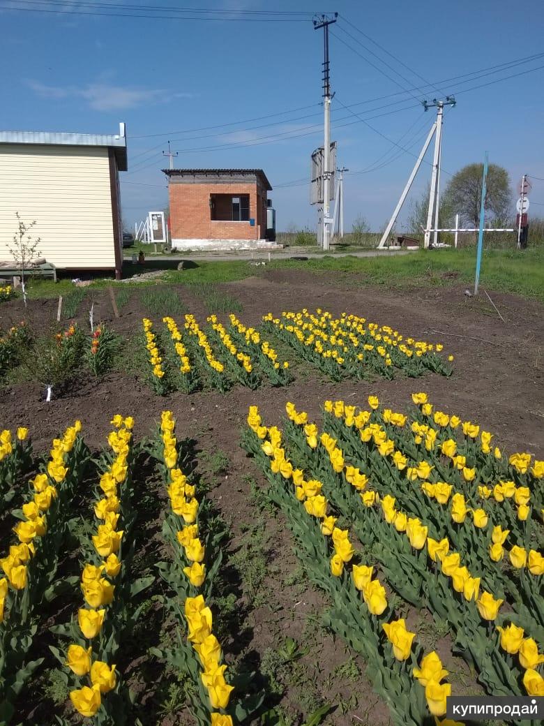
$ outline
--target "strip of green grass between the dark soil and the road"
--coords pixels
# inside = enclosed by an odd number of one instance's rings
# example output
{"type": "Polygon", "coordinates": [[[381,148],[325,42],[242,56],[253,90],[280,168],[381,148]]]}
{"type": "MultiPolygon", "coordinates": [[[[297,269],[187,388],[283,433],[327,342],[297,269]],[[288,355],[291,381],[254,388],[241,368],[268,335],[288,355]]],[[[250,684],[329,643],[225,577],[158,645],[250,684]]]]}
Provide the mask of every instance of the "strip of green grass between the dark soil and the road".
{"type": "MultiPolygon", "coordinates": [[[[191,261],[187,269],[178,270],[177,261],[151,260],[144,266],[125,263],[123,274],[130,277],[150,270],[162,270],[162,282],[182,285],[213,285],[217,282],[234,282],[262,274],[265,269],[294,269],[307,272],[333,272],[331,281],[349,285],[384,285],[387,287],[417,288],[443,287],[464,284],[474,287],[476,267],[475,248],[419,250],[408,255],[389,256],[384,252],[378,257],[327,256],[307,261],[276,260],[266,268],[255,269],[246,261],[191,261]]],[[[138,287],[143,293],[157,284],[157,280],[116,283],[112,280],[94,280],[91,289],[112,285],[115,289],[138,287]]],[[[480,285],[486,289],[514,293],[544,302],[544,247],[529,247],[523,252],[516,250],[484,250],[480,285]]],[[[207,288],[212,289],[212,288],[207,288]]],[[[30,298],[54,298],[74,290],[70,280],[33,280],[29,282],[30,298]]],[[[177,296],[176,296],[177,297],[177,296]]],[[[236,301],[238,302],[238,301],[236,301]]],[[[218,303],[219,304],[219,303],[218,303]]],[[[221,303],[223,304],[223,303],[221,303]]],[[[177,312],[178,310],[174,311],[177,312]]],[[[168,314],[168,313],[166,313],[168,314]]]]}

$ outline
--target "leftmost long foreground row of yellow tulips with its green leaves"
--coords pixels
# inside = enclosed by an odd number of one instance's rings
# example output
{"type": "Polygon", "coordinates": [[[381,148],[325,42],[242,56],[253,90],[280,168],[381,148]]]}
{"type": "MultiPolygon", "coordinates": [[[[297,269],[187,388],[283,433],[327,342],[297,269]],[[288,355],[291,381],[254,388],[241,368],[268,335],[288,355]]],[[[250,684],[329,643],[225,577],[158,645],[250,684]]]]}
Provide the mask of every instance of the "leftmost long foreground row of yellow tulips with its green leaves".
{"type": "Polygon", "coordinates": [[[12,515],[17,542],[0,560],[0,719],[8,722],[13,703],[42,658],[30,660],[45,601],[57,594],[59,555],[68,536],[70,502],[81,484],[88,450],[76,421],[61,439],[54,439],[49,461],[30,480],[25,503],[12,515]]]}

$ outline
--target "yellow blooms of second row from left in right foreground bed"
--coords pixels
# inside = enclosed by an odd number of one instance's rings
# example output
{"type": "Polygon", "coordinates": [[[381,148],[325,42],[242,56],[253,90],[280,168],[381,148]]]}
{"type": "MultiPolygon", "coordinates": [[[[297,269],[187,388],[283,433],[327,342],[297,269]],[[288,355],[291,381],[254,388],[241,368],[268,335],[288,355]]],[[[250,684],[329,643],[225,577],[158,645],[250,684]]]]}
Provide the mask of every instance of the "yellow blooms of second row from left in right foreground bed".
{"type": "MultiPolygon", "coordinates": [[[[376,401],[373,400],[372,404],[375,402],[376,401]]],[[[336,410],[338,411],[340,404],[342,404],[342,402],[337,401],[336,404],[333,404],[332,410],[336,407],[336,410]]],[[[330,406],[327,406],[327,408],[331,409],[330,406]]],[[[287,415],[293,423],[304,427],[308,446],[310,446],[310,449],[315,449],[317,446],[316,439],[318,435],[316,425],[308,423],[307,415],[304,412],[297,412],[292,404],[287,404],[287,415]]],[[[350,411],[348,411],[348,415],[351,415],[350,411]]],[[[376,431],[376,429],[374,429],[374,431],[376,431]]],[[[343,452],[337,446],[337,439],[333,439],[328,433],[323,433],[320,441],[323,448],[326,449],[331,468],[337,474],[343,473],[345,480],[354,486],[360,494],[363,504],[368,507],[374,505],[376,502],[380,502],[385,521],[388,524],[395,526],[397,532],[405,534],[414,550],[422,550],[426,545],[429,558],[434,563],[440,563],[442,574],[448,576],[452,581],[451,584],[453,590],[461,593],[466,602],[471,603],[471,601],[474,600],[482,619],[485,621],[495,620],[503,600],[495,600],[493,595],[487,591],[483,591],[482,595],[478,598],[480,577],[472,576],[466,566],[461,566],[461,555],[458,552],[450,550],[448,537],[444,537],[440,539],[440,541],[429,537],[428,526],[424,526],[419,518],[412,518],[402,510],[397,510],[395,507],[395,497],[392,497],[390,494],[384,495],[382,492],[382,497],[379,497],[377,492],[371,490],[364,491],[366,489],[366,484],[368,483],[368,476],[366,473],[360,473],[358,468],[355,468],[353,465],[345,463],[343,452]]],[[[289,470],[284,471],[283,476],[286,476],[287,474],[289,474],[289,470]]],[[[370,471],[368,474],[369,476],[372,476],[373,473],[370,471]]],[[[291,476],[294,478],[294,473],[292,473],[291,476]]],[[[506,537],[506,534],[508,534],[508,532],[503,533],[500,530],[500,526],[495,527],[493,530],[493,541],[495,542],[497,537],[500,537],[501,539],[506,537]]],[[[533,553],[536,559],[536,555],[538,553],[533,553]]],[[[542,571],[535,567],[533,568],[533,574],[542,574],[542,571]]],[[[528,695],[540,695],[544,688],[544,680],[542,680],[540,674],[535,672],[535,666],[544,661],[544,656],[539,655],[537,643],[535,643],[535,640],[531,637],[524,638],[524,629],[517,627],[514,623],[511,623],[511,625],[506,628],[499,627],[498,629],[501,634],[501,647],[503,647],[503,649],[508,653],[520,653],[520,665],[526,669],[523,682],[528,695]],[[520,646],[522,650],[519,650],[520,646]]]]}

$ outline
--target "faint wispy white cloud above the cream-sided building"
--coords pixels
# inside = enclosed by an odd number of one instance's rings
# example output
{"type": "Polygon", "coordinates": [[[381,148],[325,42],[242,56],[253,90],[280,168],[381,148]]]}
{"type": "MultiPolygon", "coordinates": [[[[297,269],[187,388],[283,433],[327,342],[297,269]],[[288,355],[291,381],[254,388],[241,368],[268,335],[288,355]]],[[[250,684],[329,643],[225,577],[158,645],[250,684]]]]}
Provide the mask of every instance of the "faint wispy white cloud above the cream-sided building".
{"type": "Polygon", "coordinates": [[[89,108],[95,111],[120,111],[149,102],[167,103],[173,97],[191,97],[191,94],[186,93],[172,94],[168,89],[131,88],[110,83],[88,83],[86,86],[47,86],[38,81],[28,81],[28,86],[42,98],[81,98],[89,108]]]}

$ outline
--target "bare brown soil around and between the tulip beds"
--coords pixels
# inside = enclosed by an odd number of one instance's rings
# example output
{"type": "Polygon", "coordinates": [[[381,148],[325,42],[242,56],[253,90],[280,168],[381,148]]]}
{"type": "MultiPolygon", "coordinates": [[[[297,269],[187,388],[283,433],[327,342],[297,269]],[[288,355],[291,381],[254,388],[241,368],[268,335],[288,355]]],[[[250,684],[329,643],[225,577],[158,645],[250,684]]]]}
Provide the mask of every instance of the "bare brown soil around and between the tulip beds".
{"type": "MultiPolygon", "coordinates": [[[[544,307],[535,301],[489,291],[503,321],[485,296],[469,298],[464,294],[463,286],[445,282],[447,284],[440,288],[400,292],[367,286],[360,275],[334,279],[333,273],[265,271],[259,277],[219,287],[242,303],[244,311],[238,315],[249,325],[257,325],[268,311],[277,314],[282,310],[321,307],[333,314],[348,311],[380,325],[391,325],[405,336],[442,342],[445,352],[455,356],[455,371],[449,379],[432,374],[419,380],[397,375],[391,381],[331,383],[318,372],[308,372],[307,367],[297,367],[294,362],[295,380],[286,388],[264,386],[250,391],[238,386],[226,394],[203,391],[190,396],[173,393],[160,398],[135,375],[111,372],[100,380],[80,381],[73,390],[49,404],[44,402],[44,391],[37,383],[2,390],[0,428],[28,425],[35,449],[45,450],[58,431],[79,418],[88,445],[98,449],[104,443],[114,413],[133,415],[138,440],[148,435],[153,421],[158,420],[163,409],[171,409],[178,421],[178,438],[191,436],[197,441],[199,450],[220,451],[228,457],[228,472],[218,473],[216,486],[209,496],[231,523],[230,554],[236,552],[240,543],[246,542],[247,527],[263,516],[255,507],[255,497],[250,489],[251,479],[259,482],[260,475],[239,441],[250,404],[258,404],[268,424],[280,423],[287,401],[293,401],[297,409],[307,410],[310,418],[319,421],[320,407],[325,399],[363,404],[373,393],[384,404],[402,411],[411,404],[410,394],[422,390],[437,407],[455,412],[493,432],[494,443],[506,452],[528,451],[542,458],[544,307]]],[[[191,295],[190,287],[178,285],[176,289],[187,308],[204,322],[206,309],[202,298],[191,295]]],[[[141,303],[141,290],[133,291],[131,300],[121,309],[119,319],[113,317],[106,292],[95,292],[94,303],[95,320],[109,322],[125,335],[135,333],[141,325],[141,317],[147,314],[141,303]]],[[[19,322],[24,312],[20,301],[2,305],[1,327],[19,322]]],[[[30,301],[26,317],[38,330],[46,330],[56,319],[56,312],[55,300],[30,301]]],[[[76,319],[81,325],[88,325],[88,298],[81,304],[76,319]]],[[[159,322],[158,317],[155,319],[159,322]]],[[[353,692],[358,696],[358,701],[346,707],[345,714],[337,710],[325,723],[339,726],[355,722],[387,724],[387,707],[372,693],[363,675],[355,682],[342,682],[334,675],[334,669],[349,658],[344,645],[334,643],[330,635],[317,627],[309,637],[309,617],[311,621],[312,613],[323,611],[326,603],[321,593],[311,587],[301,590],[296,582],[285,583],[286,575],[297,568],[292,542],[281,518],[266,510],[264,518],[267,571],[262,588],[265,601],[255,608],[248,608],[250,637],[245,650],[253,653],[258,669],[263,653],[278,648],[287,637],[292,637],[301,647],[310,645],[310,652],[302,656],[300,664],[304,664],[306,677],[313,683],[318,701],[347,701],[353,692]],[[334,693],[326,693],[330,688],[334,693]]],[[[244,600],[244,595],[240,598],[240,606],[247,606],[247,598],[244,600]]],[[[424,622],[426,615],[411,612],[409,619],[424,622]]],[[[235,652],[235,643],[236,634],[232,634],[226,650],[235,652]]],[[[441,640],[438,648],[448,668],[448,661],[450,667],[453,665],[447,645],[448,640],[441,640]]],[[[359,666],[363,669],[363,664],[359,663],[359,666]]],[[[462,669],[459,662],[456,668],[462,669]]],[[[466,678],[470,682],[470,677],[466,678]]],[[[292,682],[287,687],[281,702],[288,714],[307,713],[308,703],[301,698],[301,693],[308,689],[308,682],[302,678],[302,685],[292,682]]],[[[160,717],[156,711],[147,721],[165,726],[174,722],[181,721],[160,717]]]]}

